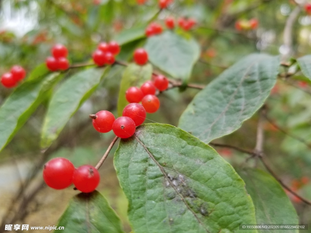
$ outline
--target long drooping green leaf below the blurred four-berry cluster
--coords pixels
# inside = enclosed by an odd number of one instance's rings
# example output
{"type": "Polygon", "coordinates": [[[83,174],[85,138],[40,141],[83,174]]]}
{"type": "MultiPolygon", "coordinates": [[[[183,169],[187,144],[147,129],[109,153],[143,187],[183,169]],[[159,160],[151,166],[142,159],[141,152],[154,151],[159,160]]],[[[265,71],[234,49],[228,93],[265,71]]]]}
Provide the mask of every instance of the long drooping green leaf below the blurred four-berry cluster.
{"type": "Polygon", "coordinates": [[[68,78],[53,94],[46,113],[41,147],[48,148],[63,130],[81,104],[100,83],[104,69],[91,68],[68,78]]]}

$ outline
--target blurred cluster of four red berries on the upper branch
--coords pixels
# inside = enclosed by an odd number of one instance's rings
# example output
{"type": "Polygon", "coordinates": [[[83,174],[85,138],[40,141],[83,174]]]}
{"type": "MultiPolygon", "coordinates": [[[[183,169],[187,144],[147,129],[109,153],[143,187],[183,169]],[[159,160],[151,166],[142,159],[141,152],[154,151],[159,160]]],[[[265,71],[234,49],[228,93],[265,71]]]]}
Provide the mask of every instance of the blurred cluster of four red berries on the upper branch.
{"type": "Polygon", "coordinates": [[[119,44],[115,41],[101,42],[92,54],[93,61],[97,66],[112,65],[120,50],[119,44]]]}

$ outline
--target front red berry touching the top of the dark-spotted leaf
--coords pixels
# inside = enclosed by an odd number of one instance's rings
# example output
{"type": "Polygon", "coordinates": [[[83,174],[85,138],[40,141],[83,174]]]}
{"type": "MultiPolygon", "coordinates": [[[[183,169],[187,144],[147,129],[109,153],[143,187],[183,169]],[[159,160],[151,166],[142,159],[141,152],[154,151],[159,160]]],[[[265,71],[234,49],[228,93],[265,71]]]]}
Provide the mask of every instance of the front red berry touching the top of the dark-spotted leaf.
{"type": "Polygon", "coordinates": [[[135,122],[129,117],[118,117],[114,121],[112,130],[119,138],[129,138],[135,133],[135,122]]]}

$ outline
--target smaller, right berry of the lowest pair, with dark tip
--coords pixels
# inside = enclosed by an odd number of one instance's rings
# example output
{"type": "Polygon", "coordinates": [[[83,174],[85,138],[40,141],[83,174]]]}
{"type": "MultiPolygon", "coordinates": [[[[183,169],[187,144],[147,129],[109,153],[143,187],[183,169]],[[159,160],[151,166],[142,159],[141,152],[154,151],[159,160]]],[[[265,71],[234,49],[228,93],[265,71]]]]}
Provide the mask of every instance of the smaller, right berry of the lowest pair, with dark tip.
{"type": "Polygon", "coordinates": [[[95,167],[91,165],[82,165],[73,173],[72,181],[81,192],[91,193],[99,184],[100,175],[95,167]]]}

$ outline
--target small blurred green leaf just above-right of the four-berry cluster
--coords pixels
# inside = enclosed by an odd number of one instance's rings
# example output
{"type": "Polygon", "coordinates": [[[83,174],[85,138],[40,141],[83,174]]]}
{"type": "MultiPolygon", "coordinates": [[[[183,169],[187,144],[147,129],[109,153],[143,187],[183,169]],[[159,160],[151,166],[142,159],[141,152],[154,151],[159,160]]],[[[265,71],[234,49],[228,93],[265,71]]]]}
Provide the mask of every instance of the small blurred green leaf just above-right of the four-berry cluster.
{"type": "Polygon", "coordinates": [[[145,37],[146,25],[141,25],[138,27],[132,27],[130,29],[123,30],[119,33],[115,40],[120,44],[126,44],[134,40],[142,39],[145,37]]]}

